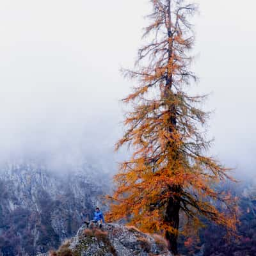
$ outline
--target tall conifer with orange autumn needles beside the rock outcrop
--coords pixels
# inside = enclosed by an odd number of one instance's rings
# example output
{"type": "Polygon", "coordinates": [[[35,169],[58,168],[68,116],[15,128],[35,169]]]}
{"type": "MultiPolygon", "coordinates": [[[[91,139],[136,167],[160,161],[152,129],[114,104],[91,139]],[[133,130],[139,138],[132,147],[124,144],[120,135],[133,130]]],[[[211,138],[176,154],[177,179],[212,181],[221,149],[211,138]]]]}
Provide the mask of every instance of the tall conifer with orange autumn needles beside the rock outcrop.
{"type": "Polygon", "coordinates": [[[124,70],[136,86],[123,100],[132,108],[116,148],[127,144],[133,154],[115,175],[108,220],[126,218],[142,231],[164,234],[176,255],[179,233],[198,230],[204,218],[234,232],[236,207],[214,187],[232,177],[206,155],[211,141],[203,129],[209,116],[201,109],[205,96],[188,90],[196,81],[190,70],[194,33],[189,22],[196,5],[185,0],[150,4],[151,23],[143,35],[148,43],[138,51],[136,69],[124,70]]]}

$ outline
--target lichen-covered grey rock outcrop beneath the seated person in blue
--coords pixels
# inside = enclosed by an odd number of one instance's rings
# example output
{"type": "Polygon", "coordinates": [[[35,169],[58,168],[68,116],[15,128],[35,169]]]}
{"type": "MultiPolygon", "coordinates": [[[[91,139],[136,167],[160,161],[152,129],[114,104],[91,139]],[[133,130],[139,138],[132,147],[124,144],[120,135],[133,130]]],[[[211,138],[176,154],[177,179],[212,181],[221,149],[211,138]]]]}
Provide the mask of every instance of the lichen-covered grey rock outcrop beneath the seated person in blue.
{"type": "Polygon", "coordinates": [[[88,229],[83,225],[75,237],[51,255],[172,256],[162,237],[150,236],[134,227],[118,224],[104,224],[100,229],[88,229]]]}

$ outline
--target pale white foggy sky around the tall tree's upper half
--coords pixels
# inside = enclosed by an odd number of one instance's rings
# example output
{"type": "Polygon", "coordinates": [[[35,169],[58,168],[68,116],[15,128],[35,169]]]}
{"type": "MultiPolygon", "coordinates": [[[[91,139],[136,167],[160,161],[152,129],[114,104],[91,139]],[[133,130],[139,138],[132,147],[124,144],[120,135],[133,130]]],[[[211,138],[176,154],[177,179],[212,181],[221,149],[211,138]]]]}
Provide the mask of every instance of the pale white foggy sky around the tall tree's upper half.
{"type": "MultiPolygon", "coordinates": [[[[256,2],[198,3],[195,90],[211,93],[211,153],[252,173],[256,2]]],[[[132,67],[149,10],[145,0],[0,0],[2,158],[110,150],[122,131],[118,99],[133,85],[119,69],[132,67]]]]}

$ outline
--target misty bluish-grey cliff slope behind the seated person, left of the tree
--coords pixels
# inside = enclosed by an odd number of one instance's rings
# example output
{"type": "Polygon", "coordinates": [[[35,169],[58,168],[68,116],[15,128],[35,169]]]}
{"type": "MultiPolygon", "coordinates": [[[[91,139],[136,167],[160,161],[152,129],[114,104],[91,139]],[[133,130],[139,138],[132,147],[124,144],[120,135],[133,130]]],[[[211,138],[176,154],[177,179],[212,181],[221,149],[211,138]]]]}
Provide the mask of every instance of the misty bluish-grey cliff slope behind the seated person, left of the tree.
{"type": "Polygon", "coordinates": [[[52,172],[26,162],[0,171],[0,255],[36,255],[58,248],[92,217],[108,191],[108,175],[90,164],[52,172]],[[60,174],[61,173],[61,174],[60,174]]]}

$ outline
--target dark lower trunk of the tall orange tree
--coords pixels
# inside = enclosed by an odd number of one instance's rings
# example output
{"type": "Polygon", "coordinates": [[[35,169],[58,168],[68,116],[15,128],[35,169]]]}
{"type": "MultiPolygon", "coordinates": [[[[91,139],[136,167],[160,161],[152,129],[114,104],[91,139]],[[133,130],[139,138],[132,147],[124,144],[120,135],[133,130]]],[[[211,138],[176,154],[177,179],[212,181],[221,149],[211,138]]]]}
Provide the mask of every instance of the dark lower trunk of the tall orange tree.
{"type": "Polygon", "coordinates": [[[175,228],[175,233],[166,231],[165,237],[168,241],[168,249],[174,255],[178,254],[178,230],[179,230],[179,211],[180,211],[180,186],[174,186],[170,189],[173,196],[170,196],[166,207],[165,221],[170,223],[171,227],[175,228]],[[176,195],[178,194],[178,195],[176,195]]]}

